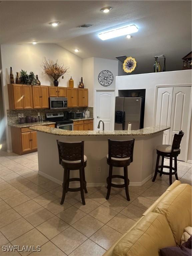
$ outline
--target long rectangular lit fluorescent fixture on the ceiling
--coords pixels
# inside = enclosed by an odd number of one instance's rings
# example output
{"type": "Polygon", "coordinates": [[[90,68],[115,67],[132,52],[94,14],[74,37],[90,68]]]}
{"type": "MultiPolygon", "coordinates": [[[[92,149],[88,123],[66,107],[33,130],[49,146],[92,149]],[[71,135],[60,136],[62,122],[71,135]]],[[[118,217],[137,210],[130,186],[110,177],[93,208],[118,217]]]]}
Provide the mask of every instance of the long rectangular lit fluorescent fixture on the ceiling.
{"type": "Polygon", "coordinates": [[[98,34],[98,37],[101,40],[107,40],[118,36],[124,36],[128,34],[132,34],[138,31],[138,28],[135,25],[131,26],[123,26],[120,28],[116,28],[113,30],[108,30],[106,32],[98,34]]]}

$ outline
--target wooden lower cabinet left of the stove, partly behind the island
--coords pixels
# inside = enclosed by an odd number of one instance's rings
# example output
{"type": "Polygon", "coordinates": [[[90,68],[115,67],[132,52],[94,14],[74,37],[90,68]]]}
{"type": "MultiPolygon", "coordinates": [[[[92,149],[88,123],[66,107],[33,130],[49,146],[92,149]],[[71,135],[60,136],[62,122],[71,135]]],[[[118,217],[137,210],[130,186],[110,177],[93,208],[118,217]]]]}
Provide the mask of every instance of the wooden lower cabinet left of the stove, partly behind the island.
{"type": "MultiPolygon", "coordinates": [[[[46,125],[55,127],[54,124],[46,125]]],[[[37,132],[28,127],[11,127],[12,149],[18,155],[37,151],[37,132]]]]}

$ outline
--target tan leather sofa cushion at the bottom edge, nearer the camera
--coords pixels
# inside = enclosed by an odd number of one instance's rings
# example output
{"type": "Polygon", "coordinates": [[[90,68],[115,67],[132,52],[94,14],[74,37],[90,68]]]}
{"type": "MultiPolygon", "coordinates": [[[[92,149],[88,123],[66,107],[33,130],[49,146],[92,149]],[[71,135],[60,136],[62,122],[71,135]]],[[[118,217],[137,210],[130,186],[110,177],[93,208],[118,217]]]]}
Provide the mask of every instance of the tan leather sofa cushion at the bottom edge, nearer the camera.
{"type": "Polygon", "coordinates": [[[158,256],[167,246],[176,246],[169,224],[164,215],[151,212],[119,241],[113,256],[158,256]]]}

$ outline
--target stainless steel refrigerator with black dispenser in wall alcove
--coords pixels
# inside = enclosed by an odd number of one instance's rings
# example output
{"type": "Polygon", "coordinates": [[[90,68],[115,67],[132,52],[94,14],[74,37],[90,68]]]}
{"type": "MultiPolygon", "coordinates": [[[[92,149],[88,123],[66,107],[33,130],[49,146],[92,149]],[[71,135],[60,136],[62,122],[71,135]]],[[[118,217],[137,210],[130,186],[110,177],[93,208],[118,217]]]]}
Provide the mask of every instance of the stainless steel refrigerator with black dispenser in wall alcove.
{"type": "Polygon", "coordinates": [[[131,130],[143,128],[145,98],[116,97],[115,98],[115,130],[131,130]]]}

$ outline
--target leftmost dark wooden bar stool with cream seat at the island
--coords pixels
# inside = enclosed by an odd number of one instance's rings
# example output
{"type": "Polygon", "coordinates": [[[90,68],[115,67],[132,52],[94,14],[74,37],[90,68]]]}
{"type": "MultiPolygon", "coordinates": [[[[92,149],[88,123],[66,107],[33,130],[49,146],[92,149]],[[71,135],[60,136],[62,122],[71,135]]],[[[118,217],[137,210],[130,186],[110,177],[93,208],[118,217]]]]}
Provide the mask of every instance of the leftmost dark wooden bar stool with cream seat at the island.
{"type": "Polygon", "coordinates": [[[64,168],[63,175],[63,193],[61,198],[61,204],[65,200],[65,194],[68,191],[75,192],[81,191],[82,204],[85,205],[84,192],[87,193],[86,181],[85,181],[85,167],[87,165],[87,157],[84,155],[84,141],[75,143],[66,143],[57,140],[57,146],[59,151],[59,164],[64,168]],[[70,170],[79,170],[80,178],[70,179],[70,170]],[[80,181],[79,188],[69,188],[70,181],[80,181]]]}

